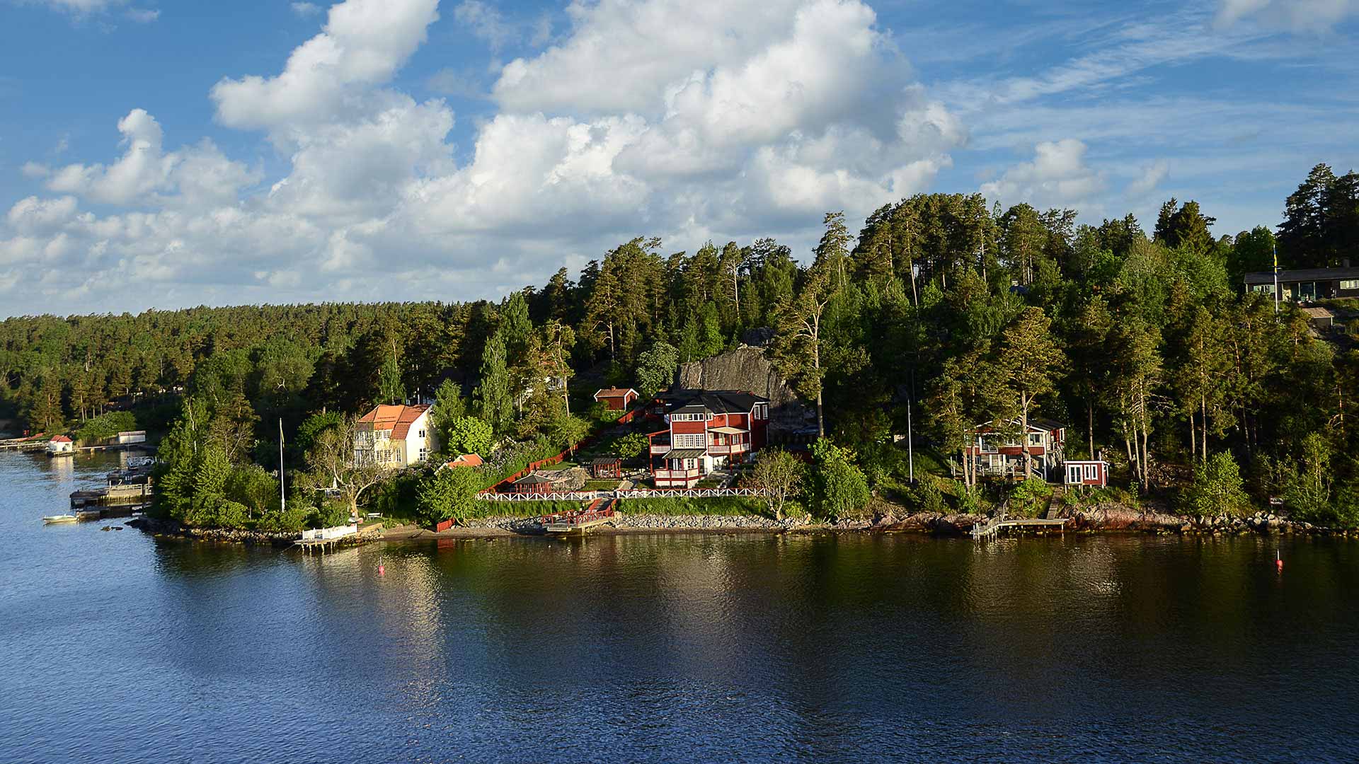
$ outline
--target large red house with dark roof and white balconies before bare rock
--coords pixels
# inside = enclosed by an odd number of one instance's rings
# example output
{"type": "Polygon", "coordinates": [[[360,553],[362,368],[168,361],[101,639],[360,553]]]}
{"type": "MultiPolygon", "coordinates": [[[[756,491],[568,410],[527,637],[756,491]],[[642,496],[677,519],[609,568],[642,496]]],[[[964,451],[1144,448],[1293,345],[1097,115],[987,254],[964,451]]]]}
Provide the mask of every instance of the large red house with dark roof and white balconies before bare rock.
{"type": "Polygon", "coordinates": [[[769,400],[741,390],[677,390],[658,397],[665,430],[648,434],[656,488],[693,488],[715,469],[764,447],[769,400]]]}

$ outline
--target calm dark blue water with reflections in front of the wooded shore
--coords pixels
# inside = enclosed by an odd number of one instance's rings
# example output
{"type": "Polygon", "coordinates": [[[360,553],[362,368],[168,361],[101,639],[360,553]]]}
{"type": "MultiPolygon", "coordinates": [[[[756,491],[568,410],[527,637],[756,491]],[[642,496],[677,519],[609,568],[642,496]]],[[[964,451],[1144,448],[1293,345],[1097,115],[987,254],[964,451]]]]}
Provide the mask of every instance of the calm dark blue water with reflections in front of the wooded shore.
{"type": "Polygon", "coordinates": [[[5,763],[1359,756],[1351,542],[42,526],[110,466],[0,454],[5,763]]]}

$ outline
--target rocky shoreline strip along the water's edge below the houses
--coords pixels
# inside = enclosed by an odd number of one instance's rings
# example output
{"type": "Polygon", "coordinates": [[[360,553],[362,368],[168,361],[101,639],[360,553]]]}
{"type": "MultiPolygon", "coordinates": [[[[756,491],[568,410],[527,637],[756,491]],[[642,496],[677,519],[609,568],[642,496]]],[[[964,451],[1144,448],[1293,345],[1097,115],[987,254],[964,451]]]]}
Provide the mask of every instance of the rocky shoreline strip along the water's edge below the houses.
{"type": "MultiPolygon", "coordinates": [[[[927,533],[934,536],[966,536],[981,515],[913,513],[904,517],[887,513],[875,518],[843,519],[839,522],[810,521],[809,518],[772,518],[752,515],[651,515],[618,513],[613,526],[591,530],[591,534],[629,533],[927,533]]],[[[154,536],[170,536],[223,544],[255,544],[291,546],[299,533],[270,533],[257,530],[185,527],[177,522],[137,518],[128,523],[154,536]]],[[[1249,517],[1189,518],[1152,510],[1139,510],[1124,504],[1099,506],[1068,514],[1065,533],[1129,533],[1148,536],[1242,536],[1257,534],[1313,534],[1359,537],[1359,530],[1329,529],[1309,522],[1294,522],[1272,513],[1249,517]]],[[[510,536],[538,536],[541,529],[533,518],[495,517],[470,519],[463,525],[435,533],[416,526],[371,529],[361,541],[423,541],[429,538],[493,538],[510,536]]],[[[1031,533],[1031,532],[1026,532],[1031,533]]],[[[1057,532],[1045,532],[1057,533],[1057,532]]]]}

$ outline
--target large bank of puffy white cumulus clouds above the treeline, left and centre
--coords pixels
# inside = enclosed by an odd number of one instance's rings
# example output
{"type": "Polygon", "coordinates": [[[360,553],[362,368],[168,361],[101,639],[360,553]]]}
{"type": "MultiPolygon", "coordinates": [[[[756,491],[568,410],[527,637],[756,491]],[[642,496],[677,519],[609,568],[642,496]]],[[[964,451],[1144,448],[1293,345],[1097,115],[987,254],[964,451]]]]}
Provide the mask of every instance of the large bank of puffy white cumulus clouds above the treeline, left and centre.
{"type": "MultiPolygon", "coordinates": [[[[113,299],[132,283],[156,305],[496,296],[641,234],[805,250],[822,212],[862,218],[925,190],[968,140],[860,0],[567,12],[556,46],[500,68],[499,111],[457,160],[448,105],[391,86],[438,1],[336,4],[276,73],[228,75],[208,94],[216,120],[260,131],[284,171],[208,140],[167,147],[132,109],[114,158],[26,170],[53,196],[11,208],[0,268],[60,250],[35,300],[113,299]]],[[[492,46],[525,34],[489,3],[453,15],[492,46]]]]}

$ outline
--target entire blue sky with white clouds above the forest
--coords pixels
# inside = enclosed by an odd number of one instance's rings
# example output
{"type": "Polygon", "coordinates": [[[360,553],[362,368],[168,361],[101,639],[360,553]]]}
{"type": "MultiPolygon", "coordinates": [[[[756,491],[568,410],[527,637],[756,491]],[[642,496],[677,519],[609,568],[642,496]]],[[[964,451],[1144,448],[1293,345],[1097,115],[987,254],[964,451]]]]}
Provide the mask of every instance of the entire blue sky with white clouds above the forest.
{"type": "Polygon", "coordinates": [[[0,0],[0,315],[496,298],[635,235],[917,192],[1170,196],[1216,234],[1359,166],[1359,0],[0,0]]]}

